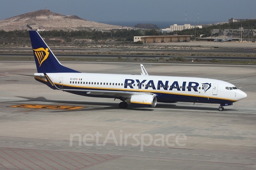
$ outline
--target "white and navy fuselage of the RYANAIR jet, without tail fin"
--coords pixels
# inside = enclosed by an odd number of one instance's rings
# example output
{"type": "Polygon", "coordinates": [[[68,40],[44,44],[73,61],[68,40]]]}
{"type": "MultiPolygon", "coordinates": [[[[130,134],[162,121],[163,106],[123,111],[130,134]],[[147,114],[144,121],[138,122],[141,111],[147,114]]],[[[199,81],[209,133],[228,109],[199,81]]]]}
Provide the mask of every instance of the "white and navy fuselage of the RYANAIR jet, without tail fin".
{"type": "MultiPolygon", "coordinates": [[[[47,73],[60,90],[91,97],[128,98],[126,95],[104,95],[99,91],[143,92],[155,94],[159,102],[233,103],[246,94],[233,84],[205,78],[166,77],[153,75],[47,73]],[[70,89],[70,91],[68,90],[70,89]],[[72,91],[72,90],[78,91],[72,91]],[[85,90],[81,92],[81,90],[85,90]],[[91,95],[90,91],[97,90],[91,95]]],[[[37,78],[38,80],[39,78],[37,78]]],[[[43,78],[39,79],[43,80],[43,78]]],[[[43,80],[45,82],[45,80],[43,80]]]]}

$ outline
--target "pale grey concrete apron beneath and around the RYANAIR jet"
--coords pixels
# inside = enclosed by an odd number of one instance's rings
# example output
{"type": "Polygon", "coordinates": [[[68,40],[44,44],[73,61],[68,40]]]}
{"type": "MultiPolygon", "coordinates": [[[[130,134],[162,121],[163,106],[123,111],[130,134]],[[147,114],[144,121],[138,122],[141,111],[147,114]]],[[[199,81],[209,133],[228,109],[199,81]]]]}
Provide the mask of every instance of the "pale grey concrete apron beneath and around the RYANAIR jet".
{"type": "MultiPolygon", "coordinates": [[[[217,43],[216,43],[217,44],[217,43]]],[[[81,72],[140,74],[140,63],[61,62],[81,72]]],[[[247,98],[215,104],[118,100],[52,90],[34,61],[0,62],[0,169],[256,169],[255,65],[142,63],[150,75],[219,79],[247,98]]]]}

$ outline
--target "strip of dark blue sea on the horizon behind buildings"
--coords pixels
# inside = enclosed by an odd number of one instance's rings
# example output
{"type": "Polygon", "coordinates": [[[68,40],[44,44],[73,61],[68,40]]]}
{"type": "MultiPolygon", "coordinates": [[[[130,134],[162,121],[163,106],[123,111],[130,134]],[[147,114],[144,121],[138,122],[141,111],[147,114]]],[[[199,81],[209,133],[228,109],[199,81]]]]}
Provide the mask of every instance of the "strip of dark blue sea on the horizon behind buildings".
{"type": "Polygon", "coordinates": [[[204,25],[204,24],[211,24],[211,23],[220,23],[223,21],[96,21],[100,23],[107,23],[111,25],[121,25],[123,27],[134,27],[136,24],[155,24],[157,27],[164,29],[170,28],[173,24],[184,25],[184,24],[191,24],[191,25],[204,25]]]}

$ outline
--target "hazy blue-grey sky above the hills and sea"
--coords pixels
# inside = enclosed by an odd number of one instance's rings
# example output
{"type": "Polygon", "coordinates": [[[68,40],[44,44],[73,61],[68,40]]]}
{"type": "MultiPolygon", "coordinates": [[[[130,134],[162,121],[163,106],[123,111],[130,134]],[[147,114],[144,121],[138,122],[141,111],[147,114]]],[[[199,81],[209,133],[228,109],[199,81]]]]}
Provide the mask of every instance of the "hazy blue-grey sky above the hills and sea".
{"type": "MultiPolygon", "coordinates": [[[[256,18],[254,0],[1,0],[0,20],[43,10],[90,21],[202,21],[256,18]]],[[[192,23],[193,24],[193,23],[192,23]]]]}

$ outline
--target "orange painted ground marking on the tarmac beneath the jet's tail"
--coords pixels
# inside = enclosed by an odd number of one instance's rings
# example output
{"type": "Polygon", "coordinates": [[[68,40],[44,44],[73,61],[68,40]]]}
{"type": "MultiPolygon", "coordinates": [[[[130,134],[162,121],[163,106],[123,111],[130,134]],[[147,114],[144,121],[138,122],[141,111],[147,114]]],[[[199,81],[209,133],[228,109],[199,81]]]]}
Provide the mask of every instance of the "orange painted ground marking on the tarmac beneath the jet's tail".
{"type": "Polygon", "coordinates": [[[21,104],[14,105],[10,107],[18,107],[18,108],[35,108],[35,109],[54,109],[54,110],[76,110],[84,108],[83,106],[60,106],[60,105],[31,105],[31,104],[21,104]]]}

